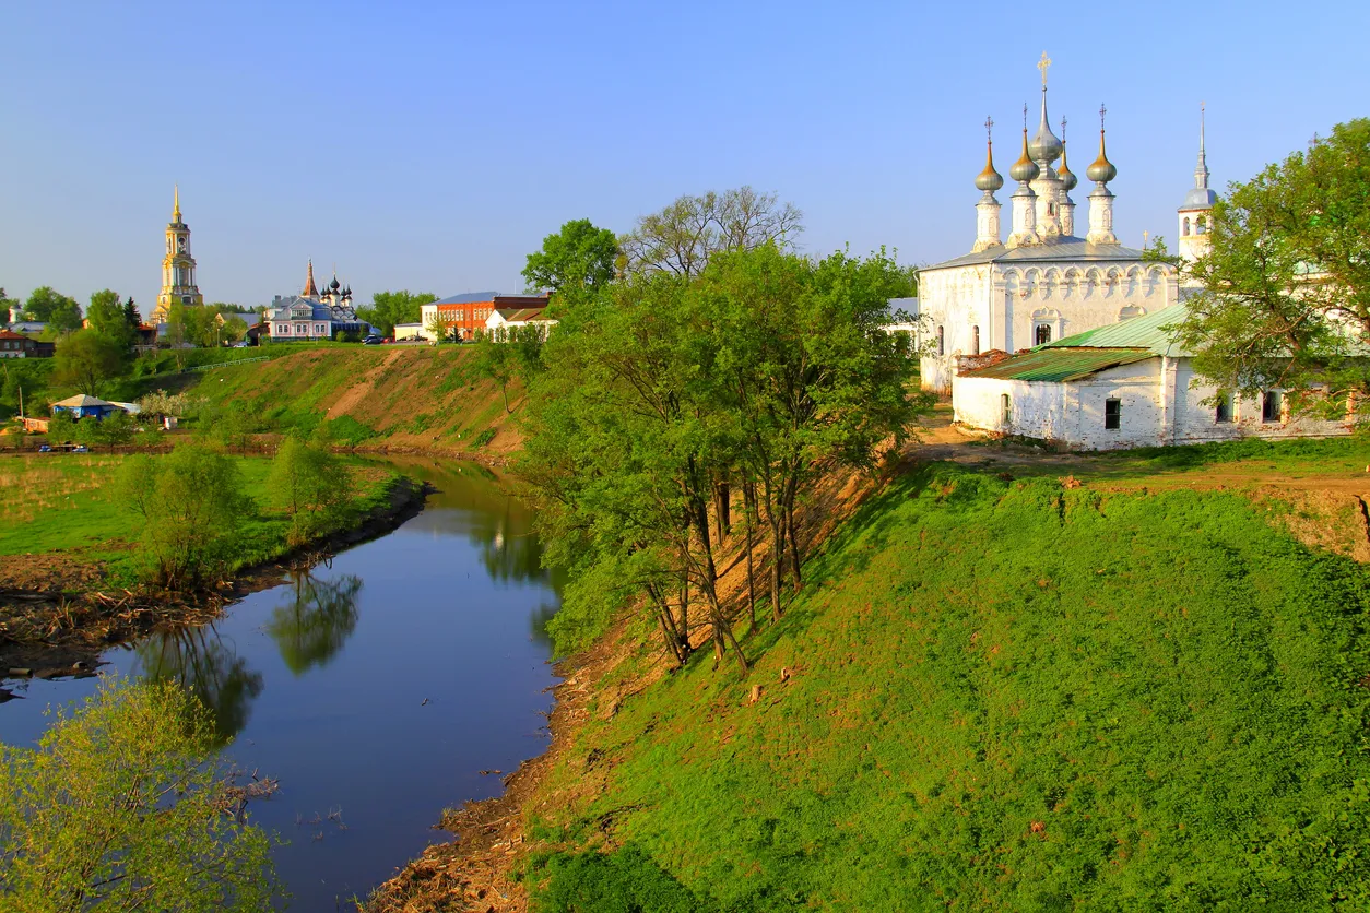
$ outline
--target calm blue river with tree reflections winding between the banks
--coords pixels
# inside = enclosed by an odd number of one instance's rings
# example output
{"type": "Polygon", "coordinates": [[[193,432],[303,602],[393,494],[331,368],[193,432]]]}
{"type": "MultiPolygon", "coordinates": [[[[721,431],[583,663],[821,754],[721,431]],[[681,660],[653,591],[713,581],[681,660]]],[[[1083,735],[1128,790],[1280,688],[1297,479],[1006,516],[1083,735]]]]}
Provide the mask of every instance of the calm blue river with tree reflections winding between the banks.
{"type": "MultiPolygon", "coordinates": [[[[275,861],[293,910],[351,909],[445,839],[432,830],[444,806],[500,791],[481,771],[508,773],[547,746],[555,678],[541,631],[558,594],[527,509],[480,467],[397,465],[440,493],[395,532],[214,626],[104,657],[105,671],[195,689],[237,765],[281,780],[251,812],[289,840],[275,861]]],[[[0,705],[0,741],[33,743],[48,704],[93,689],[19,683],[23,699],[0,705]]]]}

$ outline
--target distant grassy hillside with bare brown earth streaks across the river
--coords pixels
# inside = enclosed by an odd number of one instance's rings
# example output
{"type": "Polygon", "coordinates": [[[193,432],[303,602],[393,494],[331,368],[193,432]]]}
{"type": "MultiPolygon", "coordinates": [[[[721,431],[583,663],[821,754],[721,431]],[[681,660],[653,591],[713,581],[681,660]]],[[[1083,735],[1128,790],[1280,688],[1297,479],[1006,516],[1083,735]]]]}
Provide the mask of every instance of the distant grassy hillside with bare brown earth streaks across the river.
{"type": "MultiPolygon", "coordinates": [[[[499,385],[477,376],[470,346],[336,346],[216,368],[193,387],[241,404],[270,428],[312,431],[362,448],[504,454],[518,446],[499,385]]],[[[516,411],[516,390],[510,404],[516,411]]]]}

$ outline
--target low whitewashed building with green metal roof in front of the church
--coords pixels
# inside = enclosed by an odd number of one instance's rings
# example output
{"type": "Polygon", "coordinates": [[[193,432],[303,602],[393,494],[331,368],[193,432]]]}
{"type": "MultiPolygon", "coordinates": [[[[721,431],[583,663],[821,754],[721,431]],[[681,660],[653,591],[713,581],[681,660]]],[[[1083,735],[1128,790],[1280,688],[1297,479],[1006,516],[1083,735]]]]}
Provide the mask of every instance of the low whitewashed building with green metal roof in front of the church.
{"type": "Polygon", "coordinates": [[[1171,329],[1184,318],[1180,304],[1028,353],[964,359],[956,422],[1082,450],[1351,433],[1349,408],[1341,422],[1293,417],[1284,390],[1249,400],[1196,382],[1171,329]]]}

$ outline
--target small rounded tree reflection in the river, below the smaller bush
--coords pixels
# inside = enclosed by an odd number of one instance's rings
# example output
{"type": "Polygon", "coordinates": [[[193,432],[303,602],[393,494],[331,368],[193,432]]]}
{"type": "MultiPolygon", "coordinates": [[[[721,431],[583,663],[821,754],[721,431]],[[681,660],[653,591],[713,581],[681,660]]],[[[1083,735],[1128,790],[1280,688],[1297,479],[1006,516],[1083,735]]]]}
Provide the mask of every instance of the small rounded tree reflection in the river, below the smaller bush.
{"type": "Polygon", "coordinates": [[[271,612],[266,632],[295,675],[326,665],[356,628],[362,578],[345,574],[319,580],[308,571],[290,574],[290,601],[271,612]]]}

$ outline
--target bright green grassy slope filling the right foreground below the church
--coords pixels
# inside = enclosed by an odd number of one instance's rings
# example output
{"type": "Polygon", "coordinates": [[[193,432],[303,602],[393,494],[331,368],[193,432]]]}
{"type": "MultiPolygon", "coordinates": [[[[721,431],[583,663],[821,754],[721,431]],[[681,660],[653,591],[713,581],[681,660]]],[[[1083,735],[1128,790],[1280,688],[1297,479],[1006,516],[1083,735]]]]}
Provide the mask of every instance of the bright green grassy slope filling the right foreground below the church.
{"type": "Polygon", "coordinates": [[[662,873],[696,909],[1366,909],[1367,584],[1238,496],[925,467],[748,679],[697,656],[590,708],[545,788],[608,788],[544,806],[536,909],[662,873]]]}

